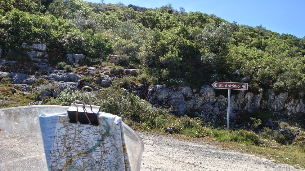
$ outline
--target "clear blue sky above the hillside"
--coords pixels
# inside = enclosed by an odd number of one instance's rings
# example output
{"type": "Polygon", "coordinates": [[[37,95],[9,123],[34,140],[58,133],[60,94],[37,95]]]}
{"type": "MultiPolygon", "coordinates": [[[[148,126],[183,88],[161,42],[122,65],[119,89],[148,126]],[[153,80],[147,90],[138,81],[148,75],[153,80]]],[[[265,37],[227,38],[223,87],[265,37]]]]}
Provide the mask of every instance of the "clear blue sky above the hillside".
{"type": "MultiPolygon", "coordinates": [[[[101,2],[100,0],[86,0],[101,2]]],[[[262,25],[268,30],[292,34],[298,38],[305,36],[305,0],[104,0],[108,3],[122,2],[140,7],[156,8],[170,3],[179,11],[200,11],[214,14],[229,22],[256,27],[262,25]]]]}

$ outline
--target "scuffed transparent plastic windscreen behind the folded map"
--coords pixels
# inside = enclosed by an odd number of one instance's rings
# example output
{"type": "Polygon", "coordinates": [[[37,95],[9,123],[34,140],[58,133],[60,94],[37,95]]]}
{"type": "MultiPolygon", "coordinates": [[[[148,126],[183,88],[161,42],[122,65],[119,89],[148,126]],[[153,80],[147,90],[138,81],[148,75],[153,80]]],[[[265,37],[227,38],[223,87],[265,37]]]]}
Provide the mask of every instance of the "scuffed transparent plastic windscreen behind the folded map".
{"type": "MultiPolygon", "coordinates": [[[[38,116],[66,112],[68,106],[35,105],[0,109],[0,170],[48,170],[38,116]]],[[[123,123],[131,169],[140,170],[142,139],[123,123]]]]}

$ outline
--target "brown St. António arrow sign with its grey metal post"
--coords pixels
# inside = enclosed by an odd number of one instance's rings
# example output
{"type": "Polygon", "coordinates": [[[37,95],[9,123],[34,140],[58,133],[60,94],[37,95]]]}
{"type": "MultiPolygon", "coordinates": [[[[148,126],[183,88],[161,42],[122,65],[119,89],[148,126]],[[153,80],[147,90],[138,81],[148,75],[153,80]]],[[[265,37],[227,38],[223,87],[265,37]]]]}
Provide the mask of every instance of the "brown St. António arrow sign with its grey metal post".
{"type": "Polygon", "coordinates": [[[218,82],[212,84],[216,89],[228,89],[228,113],[227,113],[227,130],[229,130],[230,121],[230,105],[231,105],[231,89],[233,90],[248,90],[248,83],[233,83],[233,82],[218,82]]]}

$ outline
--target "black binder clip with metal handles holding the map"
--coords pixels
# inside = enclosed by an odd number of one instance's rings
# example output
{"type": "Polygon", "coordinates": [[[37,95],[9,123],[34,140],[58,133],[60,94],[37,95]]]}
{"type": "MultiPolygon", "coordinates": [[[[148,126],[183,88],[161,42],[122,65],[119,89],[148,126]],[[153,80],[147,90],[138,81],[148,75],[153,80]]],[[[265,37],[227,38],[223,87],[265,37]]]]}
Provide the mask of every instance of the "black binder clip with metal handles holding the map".
{"type": "Polygon", "coordinates": [[[82,123],[90,125],[98,125],[98,112],[100,111],[101,106],[91,105],[91,93],[93,89],[91,87],[85,86],[82,88],[83,91],[83,101],[76,100],[71,104],[68,111],[68,116],[70,118],[70,123],[82,123]],[[89,94],[90,105],[86,105],[85,102],[85,93],[84,89],[89,88],[91,92],[89,94]]]}

